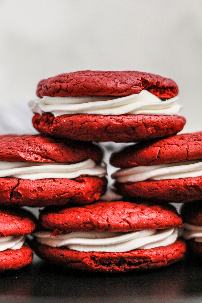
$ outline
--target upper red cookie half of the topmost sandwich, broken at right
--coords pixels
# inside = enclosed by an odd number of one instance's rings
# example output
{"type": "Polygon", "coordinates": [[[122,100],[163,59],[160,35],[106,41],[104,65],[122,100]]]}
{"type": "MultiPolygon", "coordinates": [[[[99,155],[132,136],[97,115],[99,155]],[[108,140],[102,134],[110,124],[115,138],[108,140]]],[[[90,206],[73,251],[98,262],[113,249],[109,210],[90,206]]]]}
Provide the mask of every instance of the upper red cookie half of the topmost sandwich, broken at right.
{"type": "Polygon", "coordinates": [[[159,98],[178,94],[177,84],[168,78],[137,71],[78,71],[41,80],[38,97],[43,96],[127,96],[147,89],[159,98]]]}

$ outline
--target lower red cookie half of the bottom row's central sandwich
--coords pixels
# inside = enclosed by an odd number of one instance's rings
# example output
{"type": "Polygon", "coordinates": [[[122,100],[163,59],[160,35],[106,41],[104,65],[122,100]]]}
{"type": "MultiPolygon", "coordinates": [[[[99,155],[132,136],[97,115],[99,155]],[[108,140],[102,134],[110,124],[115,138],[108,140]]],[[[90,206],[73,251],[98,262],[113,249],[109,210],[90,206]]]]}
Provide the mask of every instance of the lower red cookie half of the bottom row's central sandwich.
{"type": "Polygon", "coordinates": [[[113,273],[165,267],[183,258],[186,245],[180,239],[170,245],[152,249],[109,253],[55,248],[34,241],[33,249],[40,258],[66,268],[113,273]]]}

